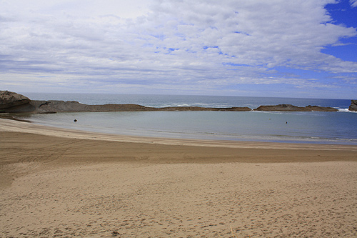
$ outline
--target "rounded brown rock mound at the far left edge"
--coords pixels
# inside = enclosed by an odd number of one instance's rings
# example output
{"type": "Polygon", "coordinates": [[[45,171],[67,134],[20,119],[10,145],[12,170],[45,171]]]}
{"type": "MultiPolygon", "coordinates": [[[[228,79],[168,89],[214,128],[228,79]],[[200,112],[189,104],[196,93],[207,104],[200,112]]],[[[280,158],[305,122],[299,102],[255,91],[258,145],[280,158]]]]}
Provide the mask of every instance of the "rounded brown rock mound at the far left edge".
{"type": "Polygon", "coordinates": [[[24,95],[12,91],[0,91],[0,111],[16,110],[30,103],[30,99],[24,95]]]}

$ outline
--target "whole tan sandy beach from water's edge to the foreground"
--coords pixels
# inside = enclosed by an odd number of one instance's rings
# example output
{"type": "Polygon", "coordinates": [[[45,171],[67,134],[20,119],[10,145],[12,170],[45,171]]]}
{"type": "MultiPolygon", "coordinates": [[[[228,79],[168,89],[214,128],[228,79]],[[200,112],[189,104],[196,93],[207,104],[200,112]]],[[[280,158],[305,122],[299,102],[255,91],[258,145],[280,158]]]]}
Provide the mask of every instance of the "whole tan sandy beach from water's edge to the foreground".
{"type": "Polygon", "coordinates": [[[356,237],[357,147],[0,119],[0,237],[356,237]]]}

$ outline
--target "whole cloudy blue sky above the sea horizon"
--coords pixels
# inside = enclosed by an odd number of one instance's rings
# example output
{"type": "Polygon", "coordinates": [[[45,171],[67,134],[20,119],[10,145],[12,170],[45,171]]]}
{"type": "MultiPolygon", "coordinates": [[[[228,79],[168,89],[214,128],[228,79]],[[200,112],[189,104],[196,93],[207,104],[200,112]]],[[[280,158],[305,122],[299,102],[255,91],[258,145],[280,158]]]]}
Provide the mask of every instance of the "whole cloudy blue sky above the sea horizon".
{"type": "Polygon", "coordinates": [[[357,0],[0,0],[0,90],[357,99],[357,0]]]}

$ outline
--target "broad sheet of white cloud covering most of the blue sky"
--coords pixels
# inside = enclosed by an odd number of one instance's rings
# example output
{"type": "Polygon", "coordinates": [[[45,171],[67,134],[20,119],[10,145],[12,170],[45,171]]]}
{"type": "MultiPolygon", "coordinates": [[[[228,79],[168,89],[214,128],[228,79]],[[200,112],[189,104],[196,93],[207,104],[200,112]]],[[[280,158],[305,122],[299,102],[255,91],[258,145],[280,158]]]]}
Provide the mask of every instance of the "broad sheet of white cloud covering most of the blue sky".
{"type": "Polygon", "coordinates": [[[211,90],[286,83],[271,78],[276,66],[357,72],[356,62],[321,53],[356,36],[356,29],[331,23],[324,6],[336,1],[128,2],[1,1],[2,74],[36,72],[51,78],[34,81],[61,86],[80,78],[211,90]]]}

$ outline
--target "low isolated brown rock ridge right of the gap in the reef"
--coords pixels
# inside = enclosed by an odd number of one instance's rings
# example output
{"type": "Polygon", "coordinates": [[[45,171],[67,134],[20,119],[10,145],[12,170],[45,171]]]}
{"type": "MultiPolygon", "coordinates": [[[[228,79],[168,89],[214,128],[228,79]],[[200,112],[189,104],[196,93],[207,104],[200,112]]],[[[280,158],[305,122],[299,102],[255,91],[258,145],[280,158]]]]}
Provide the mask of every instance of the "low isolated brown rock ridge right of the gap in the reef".
{"type": "Polygon", "coordinates": [[[333,107],[323,106],[293,106],[291,104],[278,104],[274,106],[259,106],[254,111],[338,111],[333,107]]]}

